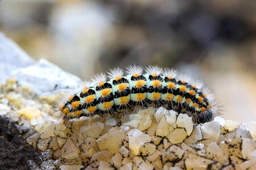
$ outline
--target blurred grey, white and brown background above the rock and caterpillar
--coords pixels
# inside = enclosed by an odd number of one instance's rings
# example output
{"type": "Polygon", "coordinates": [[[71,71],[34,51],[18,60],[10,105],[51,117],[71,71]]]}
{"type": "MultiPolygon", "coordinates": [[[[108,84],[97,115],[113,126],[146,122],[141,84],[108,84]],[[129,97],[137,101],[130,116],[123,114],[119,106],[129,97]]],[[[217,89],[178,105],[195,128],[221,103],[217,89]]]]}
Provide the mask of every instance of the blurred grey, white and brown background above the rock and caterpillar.
{"type": "Polygon", "coordinates": [[[222,117],[256,121],[254,0],[0,0],[0,31],[84,80],[117,66],[174,67],[214,89],[222,117]]]}

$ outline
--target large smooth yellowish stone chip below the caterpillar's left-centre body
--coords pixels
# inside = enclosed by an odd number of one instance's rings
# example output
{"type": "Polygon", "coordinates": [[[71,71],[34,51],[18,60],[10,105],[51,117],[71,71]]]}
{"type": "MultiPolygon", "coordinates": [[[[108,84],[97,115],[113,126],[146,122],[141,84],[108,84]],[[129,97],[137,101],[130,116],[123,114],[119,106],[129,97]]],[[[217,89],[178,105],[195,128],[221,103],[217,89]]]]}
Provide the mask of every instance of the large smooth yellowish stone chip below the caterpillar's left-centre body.
{"type": "Polygon", "coordinates": [[[122,130],[113,131],[113,133],[106,133],[97,139],[99,149],[109,150],[112,154],[117,154],[122,144],[125,134],[122,130]]]}

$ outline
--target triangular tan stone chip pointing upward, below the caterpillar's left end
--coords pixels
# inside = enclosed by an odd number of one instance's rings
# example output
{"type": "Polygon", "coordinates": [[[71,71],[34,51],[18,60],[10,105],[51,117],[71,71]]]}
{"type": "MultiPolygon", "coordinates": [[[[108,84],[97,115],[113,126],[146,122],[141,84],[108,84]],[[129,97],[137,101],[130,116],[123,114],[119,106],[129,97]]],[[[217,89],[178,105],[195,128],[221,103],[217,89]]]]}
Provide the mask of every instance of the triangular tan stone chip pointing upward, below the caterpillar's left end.
{"type": "Polygon", "coordinates": [[[67,139],[63,147],[61,148],[61,157],[65,159],[76,159],[79,157],[80,150],[71,141],[70,138],[67,139]]]}

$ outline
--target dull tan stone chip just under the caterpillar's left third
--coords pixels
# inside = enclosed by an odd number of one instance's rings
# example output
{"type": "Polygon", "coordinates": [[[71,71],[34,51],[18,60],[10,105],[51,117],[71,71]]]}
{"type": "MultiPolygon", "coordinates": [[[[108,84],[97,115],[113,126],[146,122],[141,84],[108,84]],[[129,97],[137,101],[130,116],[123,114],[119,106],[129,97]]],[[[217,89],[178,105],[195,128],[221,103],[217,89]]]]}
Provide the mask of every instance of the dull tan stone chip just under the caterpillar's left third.
{"type": "Polygon", "coordinates": [[[80,128],[80,131],[84,135],[84,137],[98,138],[103,131],[103,127],[104,124],[102,124],[101,122],[96,122],[89,126],[82,126],[80,128]]]}

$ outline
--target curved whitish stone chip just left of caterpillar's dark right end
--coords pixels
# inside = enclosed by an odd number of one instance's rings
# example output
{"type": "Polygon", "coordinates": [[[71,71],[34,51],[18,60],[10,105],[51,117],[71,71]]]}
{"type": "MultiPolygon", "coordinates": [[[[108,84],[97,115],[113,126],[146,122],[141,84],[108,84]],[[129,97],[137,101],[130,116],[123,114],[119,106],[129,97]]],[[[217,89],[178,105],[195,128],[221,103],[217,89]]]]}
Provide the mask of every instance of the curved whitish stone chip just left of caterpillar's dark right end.
{"type": "Polygon", "coordinates": [[[177,117],[176,124],[178,128],[185,128],[188,136],[192,133],[192,130],[193,130],[192,117],[189,117],[188,114],[180,113],[179,116],[177,117]]]}

